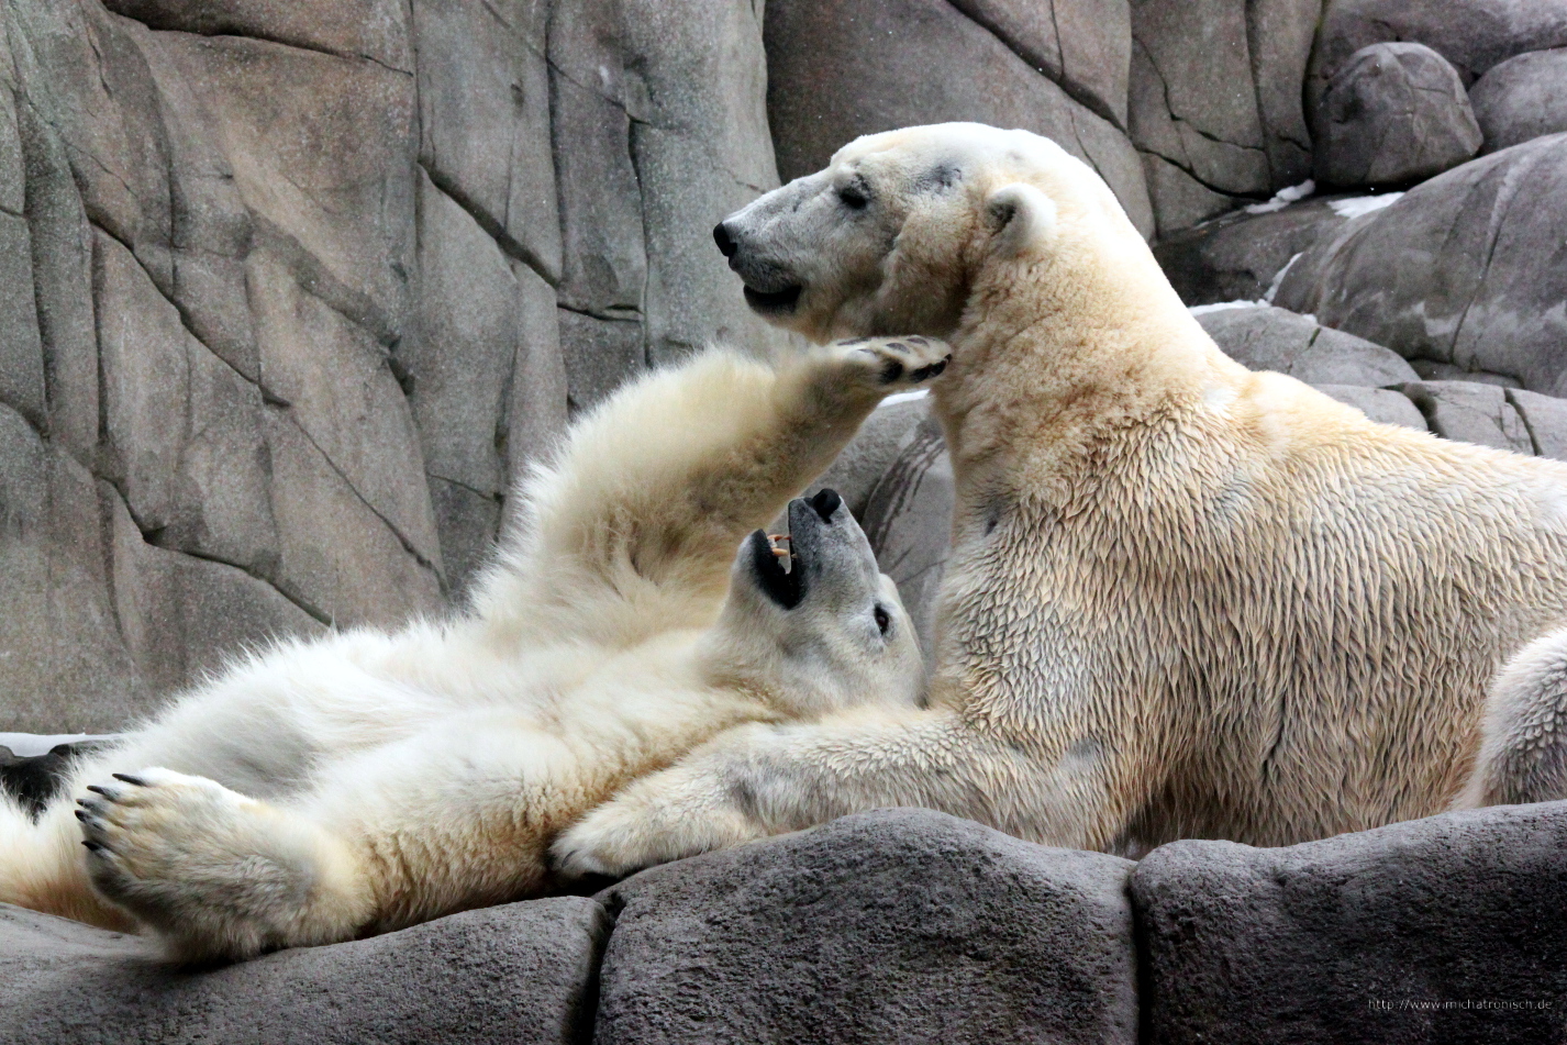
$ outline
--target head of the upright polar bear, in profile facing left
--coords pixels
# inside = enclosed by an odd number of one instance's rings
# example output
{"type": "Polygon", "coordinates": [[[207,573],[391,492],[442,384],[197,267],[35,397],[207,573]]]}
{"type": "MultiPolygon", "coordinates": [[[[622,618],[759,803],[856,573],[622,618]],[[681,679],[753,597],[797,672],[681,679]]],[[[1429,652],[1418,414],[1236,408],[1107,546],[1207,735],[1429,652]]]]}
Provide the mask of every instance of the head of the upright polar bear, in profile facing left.
{"type": "Polygon", "coordinates": [[[992,262],[1144,251],[1105,182],[1026,130],[907,127],[859,138],[826,171],[774,190],[713,230],[746,301],[834,337],[950,337],[992,262]]]}

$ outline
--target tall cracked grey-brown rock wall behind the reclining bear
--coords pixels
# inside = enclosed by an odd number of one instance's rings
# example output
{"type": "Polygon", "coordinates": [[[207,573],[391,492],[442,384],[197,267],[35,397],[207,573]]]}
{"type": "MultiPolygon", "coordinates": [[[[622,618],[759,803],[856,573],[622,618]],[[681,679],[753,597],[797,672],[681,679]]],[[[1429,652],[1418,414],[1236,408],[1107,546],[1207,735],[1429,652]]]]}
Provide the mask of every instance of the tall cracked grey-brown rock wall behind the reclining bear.
{"type": "Polygon", "coordinates": [[[0,725],[461,600],[570,406],[782,345],[707,230],[777,183],[760,9],[0,9],[0,725]]]}

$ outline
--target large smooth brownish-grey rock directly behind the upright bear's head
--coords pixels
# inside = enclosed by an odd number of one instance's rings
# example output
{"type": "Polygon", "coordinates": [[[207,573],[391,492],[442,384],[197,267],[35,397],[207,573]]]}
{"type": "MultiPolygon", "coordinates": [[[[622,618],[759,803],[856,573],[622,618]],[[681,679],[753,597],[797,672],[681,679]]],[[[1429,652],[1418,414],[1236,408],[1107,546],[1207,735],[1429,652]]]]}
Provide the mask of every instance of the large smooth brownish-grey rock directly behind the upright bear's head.
{"type": "Polygon", "coordinates": [[[1127,136],[946,0],[774,0],[765,28],[782,177],[818,171],[873,132],[945,121],[1022,127],[1091,163],[1138,229],[1153,230],[1127,136]]]}

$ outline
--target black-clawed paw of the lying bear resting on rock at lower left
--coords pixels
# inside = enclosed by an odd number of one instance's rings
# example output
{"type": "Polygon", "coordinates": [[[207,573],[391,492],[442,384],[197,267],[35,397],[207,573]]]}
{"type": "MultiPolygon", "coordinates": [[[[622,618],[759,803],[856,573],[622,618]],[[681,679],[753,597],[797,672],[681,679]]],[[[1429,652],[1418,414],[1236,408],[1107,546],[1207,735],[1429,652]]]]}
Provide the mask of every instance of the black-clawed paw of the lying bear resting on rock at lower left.
{"type": "Polygon", "coordinates": [[[186,959],[285,946],[318,877],[309,832],[171,769],[116,772],[77,801],[94,887],[186,959]]]}

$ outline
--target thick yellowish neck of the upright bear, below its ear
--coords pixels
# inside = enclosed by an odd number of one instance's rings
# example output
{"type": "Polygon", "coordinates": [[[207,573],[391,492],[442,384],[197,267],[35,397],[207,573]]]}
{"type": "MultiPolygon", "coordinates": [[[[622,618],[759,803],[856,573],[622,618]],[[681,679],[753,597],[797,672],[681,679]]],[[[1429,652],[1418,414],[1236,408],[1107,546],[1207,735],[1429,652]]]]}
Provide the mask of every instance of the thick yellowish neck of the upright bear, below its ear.
{"type": "MultiPolygon", "coordinates": [[[[1026,451],[1089,467],[1130,428],[1175,426],[1246,371],[1186,310],[1139,237],[1078,235],[979,266],[937,384],[959,486],[1026,451]]],[[[1200,426],[1197,426],[1200,428],[1200,426]]]]}

